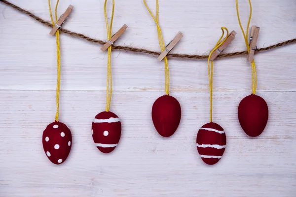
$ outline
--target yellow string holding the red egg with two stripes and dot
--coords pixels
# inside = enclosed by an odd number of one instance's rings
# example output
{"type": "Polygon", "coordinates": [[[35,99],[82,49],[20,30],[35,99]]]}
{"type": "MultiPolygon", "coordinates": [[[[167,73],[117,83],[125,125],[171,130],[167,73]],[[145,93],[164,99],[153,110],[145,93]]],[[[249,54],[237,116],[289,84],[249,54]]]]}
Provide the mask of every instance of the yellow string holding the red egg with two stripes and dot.
{"type": "MultiPolygon", "coordinates": [[[[105,14],[105,21],[106,21],[106,28],[107,28],[107,36],[108,36],[108,40],[110,40],[111,37],[112,37],[112,23],[113,23],[113,15],[114,15],[115,2],[114,2],[114,0],[112,0],[112,14],[111,14],[110,27],[108,25],[106,4],[107,4],[107,0],[105,0],[105,4],[104,4],[104,14],[105,14]]],[[[110,110],[111,96],[112,96],[111,49],[112,48],[110,46],[108,48],[108,63],[107,63],[106,112],[109,112],[109,110],[110,110]],[[109,85],[109,81],[110,81],[110,85],[109,85]],[[110,90],[109,90],[109,87],[110,87],[110,90]]]]}

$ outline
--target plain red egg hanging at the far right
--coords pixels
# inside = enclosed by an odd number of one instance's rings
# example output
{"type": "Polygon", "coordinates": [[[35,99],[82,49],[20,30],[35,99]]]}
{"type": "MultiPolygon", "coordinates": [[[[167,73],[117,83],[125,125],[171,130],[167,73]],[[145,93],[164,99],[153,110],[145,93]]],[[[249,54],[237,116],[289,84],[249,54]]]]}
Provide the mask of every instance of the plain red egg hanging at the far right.
{"type": "Polygon", "coordinates": [[[262,97],[251,94],[239,103],[237,114],[244,132],[248,136],[257,137],[267,124],[268,106],[262,97]]]}

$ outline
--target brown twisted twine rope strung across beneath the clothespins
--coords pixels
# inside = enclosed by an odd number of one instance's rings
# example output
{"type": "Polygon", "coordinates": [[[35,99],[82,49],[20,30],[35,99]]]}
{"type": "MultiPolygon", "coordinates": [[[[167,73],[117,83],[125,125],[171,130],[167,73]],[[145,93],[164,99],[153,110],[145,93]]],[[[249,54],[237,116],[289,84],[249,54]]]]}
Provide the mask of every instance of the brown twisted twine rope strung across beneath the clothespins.
{"type": "MultiPolygon", "coordinates": [[[[7,4],[7,5],[9,5],[10,7],[13,7],[14,9],[16,9],[16,10],[22,12],[22,13],[25,13],[25,14],[31,16],[32,18],[34,18],[38,22],[42,23],[43,25],[46,25],[47,27],[50,27],[50,28],[53,27],[51,23],[44,21],[43,19],[37,17],[33,13],[22,9],[22,8],[8,2],[7,0],[0,0],[0,1],[7,4]]],[[[100,45],[104,45],[106,43],[106,42],[104,42],[102,40],[97,40],[97,39],[94,39],[94,38],[90,38],[90,37],[85,36],[85,35],[83,35],[81,33],[76,33],[76,32],[70,31],[70,30],[65,29],[65,28],[60,28],[60,32],[64,32],[64,33],[67,33],[69,35],[85,39],[85,40],[87,40],[89,42],[98,43],[100,45]]],[[[268,47],[259,48],[259,49],[256,50],[256,53],[267,51],[267,50],[270,50],[270,49],[275,49],[277,47],[285,46],[285,45],[292,44],[292,43],[295,43],[295,42],[296,42],[296,38],[291,39],[291,40],[287,40],[287,41],[284,41],[284,42],[280,42],[278,44],[271,45],[271,46],[268,46],[268,47]]],[[[118,45],[117,46],[112,45],[112,49],[113,50],[130,51],[130,52],[134,52],[134,53],[150,54],[150,55],[153,55],[153,56],[159,56],[160,53],[161,53],[161,52],[156,52],[156,51],[149,51],[147,49],[140,49],[140,48],[128,47],[128,46],[118,46],[118,45]]],[[[239,52],[234,52],[234,53],[220,54],[218,57],[231,57],[231,56],[240,56],[240,55],[247,55],[247,54],[248,54],[247,51],[239,51],[239,52]]],[[[176,57],[176,58],[184,58],[184,59],[207,59],[208,58],[208,55],[199,56],[199,55],[171,54],[171,53],[168,54],[167,56],[176,57]]]]}

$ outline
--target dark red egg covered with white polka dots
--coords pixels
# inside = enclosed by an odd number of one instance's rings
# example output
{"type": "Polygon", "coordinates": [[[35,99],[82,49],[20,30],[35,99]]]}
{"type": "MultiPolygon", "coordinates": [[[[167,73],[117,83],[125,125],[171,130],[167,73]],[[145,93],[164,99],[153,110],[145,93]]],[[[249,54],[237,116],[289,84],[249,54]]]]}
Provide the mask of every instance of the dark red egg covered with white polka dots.
{"type": "Polygon", "coordinates": [[[42,144],[47,158],[54,164],[62,164],[71,150],[71,131],[64,123],[54,121],[43,131],[42,144]]]}

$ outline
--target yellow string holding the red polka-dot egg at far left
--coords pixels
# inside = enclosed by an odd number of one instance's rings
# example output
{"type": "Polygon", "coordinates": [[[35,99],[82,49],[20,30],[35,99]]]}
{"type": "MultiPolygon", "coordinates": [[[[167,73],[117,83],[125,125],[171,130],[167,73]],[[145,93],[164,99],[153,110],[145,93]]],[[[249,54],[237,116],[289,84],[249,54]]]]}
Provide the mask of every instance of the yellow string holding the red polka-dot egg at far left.
{"type": "MultiPolygon", "coordinates": [[[[58,15],[57,15],[58,4],[59,4],[59,0],[57,0],[56,6],[55,6],[56,23],[58,22],[58,15]]],[[[49,7],[49,14],[50,14],[51,23],[54,26],[55,23],[53,21],[53,17],[52,17],[52,13],[51,13],[50,0],[48,0],[48,7],[49,7]]],[[[57,68],[58,68],[57,89],[56,89],[57,112],[55,115],[55,120],[59,121],[59,100],[60,100],[60,84],[61,84],[61,52],[60,52],[60,32],[59,32],[59,30],[56,31],[55,35],[56,35],[56,43],[57,43],[57,68]]]]}

